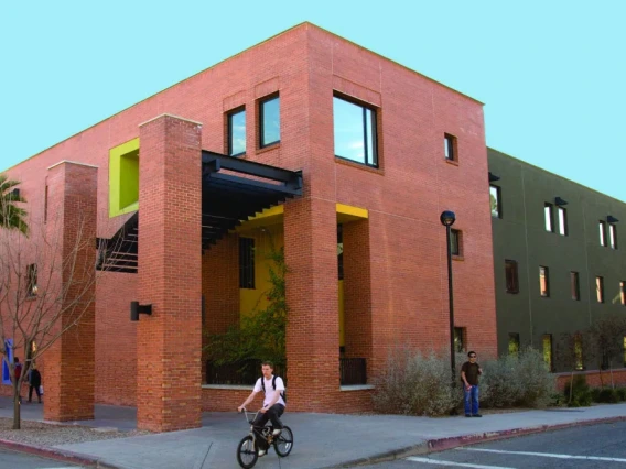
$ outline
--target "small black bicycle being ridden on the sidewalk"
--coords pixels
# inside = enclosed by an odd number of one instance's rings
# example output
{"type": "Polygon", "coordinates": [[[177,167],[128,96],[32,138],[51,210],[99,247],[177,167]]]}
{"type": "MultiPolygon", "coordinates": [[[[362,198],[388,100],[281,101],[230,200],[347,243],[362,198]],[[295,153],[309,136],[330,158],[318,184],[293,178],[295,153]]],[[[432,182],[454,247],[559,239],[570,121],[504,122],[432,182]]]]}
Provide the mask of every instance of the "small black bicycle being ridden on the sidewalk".
{"type": "MultiPolygon", "coordinates": [[[[262,438],[267,444],[268,451],[273,446],[276,454],[284,458],[289,456],[293,449],[293,432],[287,425],[282,427],[281,433],[278,436],[273,436],[273,427],[271,425],[266,425],[260,430],[255,430],[252,422],[257,418],[258,412],[251,413],[244,407],[244,413],[246,414],[246,421],[250,424],[250,434],[245,436],[239,445],[237,446],[237,462],[244,469],[250,469],[257,463],[259,459],[259,448],[257,445],[257,438],[262,438]],[[252,417],[250,417],[252,415],[252,417]]],[[[268,422],[269,424],[269,422],[268,422]]]]}

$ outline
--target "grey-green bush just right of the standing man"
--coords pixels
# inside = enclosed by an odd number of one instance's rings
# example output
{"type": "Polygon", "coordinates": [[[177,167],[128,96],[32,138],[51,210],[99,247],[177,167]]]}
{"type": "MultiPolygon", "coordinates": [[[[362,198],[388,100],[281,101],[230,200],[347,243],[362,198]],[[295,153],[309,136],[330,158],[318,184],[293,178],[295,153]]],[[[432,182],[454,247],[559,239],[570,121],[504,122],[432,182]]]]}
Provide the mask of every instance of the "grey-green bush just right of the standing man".
{"type": "Polygon", "coordinates": [[[536,349],[527,348],[517,356],[487,361],[483,372],[481,402],[485,407],[546,407],[553,401],[554,375],[536,349]]]}

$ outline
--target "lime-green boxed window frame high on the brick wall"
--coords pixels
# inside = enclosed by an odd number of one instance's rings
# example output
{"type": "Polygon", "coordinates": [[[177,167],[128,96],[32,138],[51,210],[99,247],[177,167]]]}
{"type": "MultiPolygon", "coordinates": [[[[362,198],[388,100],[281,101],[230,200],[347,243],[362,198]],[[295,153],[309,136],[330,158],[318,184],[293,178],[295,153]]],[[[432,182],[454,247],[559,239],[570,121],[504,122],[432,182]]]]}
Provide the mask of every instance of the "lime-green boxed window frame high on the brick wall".
{"type": "Polygon", "coordinates": [[[109,151],[109,217],[139,208],[139,139],[109,151]]]}

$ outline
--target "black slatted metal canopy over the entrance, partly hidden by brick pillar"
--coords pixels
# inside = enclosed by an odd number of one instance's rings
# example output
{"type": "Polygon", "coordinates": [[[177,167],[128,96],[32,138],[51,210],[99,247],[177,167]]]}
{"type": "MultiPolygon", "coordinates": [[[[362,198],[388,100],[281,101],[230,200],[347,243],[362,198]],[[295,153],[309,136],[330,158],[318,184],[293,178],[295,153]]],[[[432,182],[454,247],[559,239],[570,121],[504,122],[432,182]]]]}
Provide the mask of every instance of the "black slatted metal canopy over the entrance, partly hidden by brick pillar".
{"type": "MultiPolygon", "coordinates": [[[[302,195],[302,172],[202,151],[202,249],[266,208],[302,195]]],[[[111,239],[98,238],[96,269],[137,273],[139,211],[111,239]]]]}

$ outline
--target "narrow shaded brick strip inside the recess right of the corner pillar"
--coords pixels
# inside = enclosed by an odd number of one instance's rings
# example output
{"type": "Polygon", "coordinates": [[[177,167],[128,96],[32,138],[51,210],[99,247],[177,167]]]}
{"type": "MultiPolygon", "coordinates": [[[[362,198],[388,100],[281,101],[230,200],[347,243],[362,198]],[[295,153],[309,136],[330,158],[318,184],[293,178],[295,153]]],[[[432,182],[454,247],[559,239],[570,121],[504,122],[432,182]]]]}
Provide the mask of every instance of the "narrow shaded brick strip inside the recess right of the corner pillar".
{"type": "Polygon", "coordinates": [[[344,320],[346,358],[371,366],[371,275],[369,221],[344,223],[344,320]]]}

